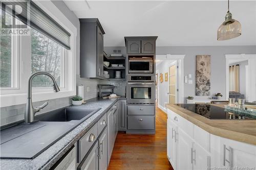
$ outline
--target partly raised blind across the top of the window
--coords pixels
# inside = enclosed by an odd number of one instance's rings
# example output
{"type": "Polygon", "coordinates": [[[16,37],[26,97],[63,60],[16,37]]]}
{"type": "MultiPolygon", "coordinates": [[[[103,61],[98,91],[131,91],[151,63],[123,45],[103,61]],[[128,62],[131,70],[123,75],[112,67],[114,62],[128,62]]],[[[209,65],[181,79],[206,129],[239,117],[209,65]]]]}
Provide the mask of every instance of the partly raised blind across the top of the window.
{"type": "Polygon", "coordinates": [[[3,0],[2,10],[70,50],[70,33],[32,1],[3,0]]]}

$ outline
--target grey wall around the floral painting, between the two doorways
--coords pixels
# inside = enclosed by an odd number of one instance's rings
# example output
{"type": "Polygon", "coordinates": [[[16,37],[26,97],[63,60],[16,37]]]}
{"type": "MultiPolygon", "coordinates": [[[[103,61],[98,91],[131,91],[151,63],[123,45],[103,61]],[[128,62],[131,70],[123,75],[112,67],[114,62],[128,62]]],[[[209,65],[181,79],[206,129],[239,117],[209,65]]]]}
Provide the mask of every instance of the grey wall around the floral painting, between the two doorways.
{"type": "MultiPolygon", "coordinates": [[[[184,84],[184,97],[196,94],[196,55],[211,55],[211,90],[210,95],[217,92],[226,94],[225,54],[256,54],[256,46],[157,46],[157,55],[185,55],[184,76],[191,74],[193,84],[184,84]]],[[[207,96],[197,98],[208,98],[207,96]]],[[[185,99],[184,99],[185,102],[185,99]]]]}

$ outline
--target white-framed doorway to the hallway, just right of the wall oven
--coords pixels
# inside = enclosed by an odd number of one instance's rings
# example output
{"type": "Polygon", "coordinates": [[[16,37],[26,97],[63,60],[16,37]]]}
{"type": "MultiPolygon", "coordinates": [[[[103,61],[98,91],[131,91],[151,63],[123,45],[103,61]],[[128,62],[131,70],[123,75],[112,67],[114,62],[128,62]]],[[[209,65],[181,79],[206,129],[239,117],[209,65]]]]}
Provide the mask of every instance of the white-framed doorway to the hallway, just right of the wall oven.
{"type": "Polygon", "coordinates": [[[185,55],[156,55],[157,106],[184,103],[183,59],[185,55]]]}

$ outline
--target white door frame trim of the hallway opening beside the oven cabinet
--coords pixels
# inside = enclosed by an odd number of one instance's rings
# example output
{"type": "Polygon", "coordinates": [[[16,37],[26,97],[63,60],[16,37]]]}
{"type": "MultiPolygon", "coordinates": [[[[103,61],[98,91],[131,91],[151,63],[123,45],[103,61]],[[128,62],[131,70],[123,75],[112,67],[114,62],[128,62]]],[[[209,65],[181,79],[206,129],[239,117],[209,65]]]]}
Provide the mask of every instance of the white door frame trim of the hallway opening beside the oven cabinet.
{"type": "MultiPolygon", "coordinates": [[[[156,55],[157,60],[176,60],[178,68],[178,103],[184,103],[184,57],[185,55],[156,55]]],[[[159,98],[158,98],[159,101],[159,98]]]]}

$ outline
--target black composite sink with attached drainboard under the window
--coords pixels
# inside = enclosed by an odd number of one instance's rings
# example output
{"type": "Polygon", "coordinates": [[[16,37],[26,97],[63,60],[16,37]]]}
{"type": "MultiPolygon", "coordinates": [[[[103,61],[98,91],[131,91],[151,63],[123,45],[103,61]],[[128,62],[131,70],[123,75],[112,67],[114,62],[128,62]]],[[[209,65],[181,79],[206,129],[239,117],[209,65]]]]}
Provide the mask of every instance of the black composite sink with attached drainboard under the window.
{"type": "Polygon", "coordinates": [[[2,159],[33,159],[72,131],[100,108],[66,107],[35,117],[38,122],[21,123],[1,130],[2,159]]]}

